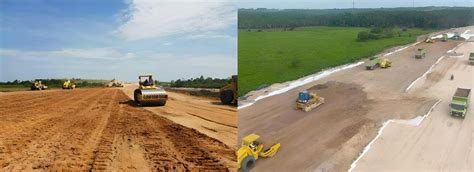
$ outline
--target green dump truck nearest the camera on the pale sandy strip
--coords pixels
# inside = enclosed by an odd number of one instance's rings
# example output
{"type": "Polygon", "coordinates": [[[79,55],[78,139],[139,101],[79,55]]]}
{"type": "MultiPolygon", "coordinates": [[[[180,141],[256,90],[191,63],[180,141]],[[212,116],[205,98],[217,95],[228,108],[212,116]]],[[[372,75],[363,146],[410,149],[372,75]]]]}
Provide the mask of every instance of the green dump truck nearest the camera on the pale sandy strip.
{"type": "Polygon", "coordinates": [[[471,89],[458,88],[451,100],[451,115],[464,118],[469,106],[469,96],[471,89]]]}

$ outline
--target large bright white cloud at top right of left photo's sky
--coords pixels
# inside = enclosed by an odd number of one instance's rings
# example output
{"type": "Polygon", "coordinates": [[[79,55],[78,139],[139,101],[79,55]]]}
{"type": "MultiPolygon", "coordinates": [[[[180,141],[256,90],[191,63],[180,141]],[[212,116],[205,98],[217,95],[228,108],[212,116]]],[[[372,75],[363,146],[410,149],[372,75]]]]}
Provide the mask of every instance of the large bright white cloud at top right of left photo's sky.
{"type": "Polygon", "coordinates": [[[116,32],[127,40],[217,31],[237,23],[231,0],[130,0],[116,32]]]}

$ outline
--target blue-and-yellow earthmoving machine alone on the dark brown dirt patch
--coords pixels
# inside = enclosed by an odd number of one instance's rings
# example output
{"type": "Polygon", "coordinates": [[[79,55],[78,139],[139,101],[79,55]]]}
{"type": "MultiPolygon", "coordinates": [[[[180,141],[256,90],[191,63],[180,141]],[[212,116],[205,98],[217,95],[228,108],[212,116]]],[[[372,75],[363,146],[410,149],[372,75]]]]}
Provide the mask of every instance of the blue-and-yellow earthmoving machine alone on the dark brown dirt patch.
{"type": "Polygon", "coordinates": [[[324,98],[310,91],[299,92],[298,98],[296,99],[296,109],[305,112],[309,112],[322,104],[324,104],[324,98]]]}

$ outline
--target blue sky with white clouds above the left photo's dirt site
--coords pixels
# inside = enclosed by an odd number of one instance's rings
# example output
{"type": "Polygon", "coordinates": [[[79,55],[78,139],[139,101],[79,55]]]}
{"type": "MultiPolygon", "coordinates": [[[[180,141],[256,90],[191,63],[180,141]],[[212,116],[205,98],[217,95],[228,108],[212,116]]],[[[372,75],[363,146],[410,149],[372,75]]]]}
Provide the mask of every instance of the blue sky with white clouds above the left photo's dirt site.
{"type": "Polygon", "coordinates": [[[237,73],[236,4],[0,0],[0,81],[237,73]]]}

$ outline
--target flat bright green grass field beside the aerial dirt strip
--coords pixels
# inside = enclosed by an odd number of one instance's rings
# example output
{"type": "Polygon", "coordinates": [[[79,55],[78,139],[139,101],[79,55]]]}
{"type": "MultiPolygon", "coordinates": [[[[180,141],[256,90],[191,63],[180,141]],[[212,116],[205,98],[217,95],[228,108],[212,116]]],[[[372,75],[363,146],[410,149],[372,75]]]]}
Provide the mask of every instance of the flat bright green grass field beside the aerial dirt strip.
{"type": "MultiPolygon", "coordinates": [[[[357,42],[367,28],[304,27],[293,31],[238,35],[239,95],[263,84],[295,80],[323,69],[355,62],[385,48],[415,42],[433,30],[408,29],[393,38],[357,42]]],[[[396,32],[400,29],[395,29],[396,32]]]]}

